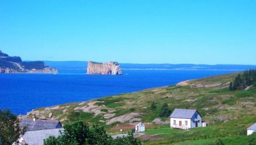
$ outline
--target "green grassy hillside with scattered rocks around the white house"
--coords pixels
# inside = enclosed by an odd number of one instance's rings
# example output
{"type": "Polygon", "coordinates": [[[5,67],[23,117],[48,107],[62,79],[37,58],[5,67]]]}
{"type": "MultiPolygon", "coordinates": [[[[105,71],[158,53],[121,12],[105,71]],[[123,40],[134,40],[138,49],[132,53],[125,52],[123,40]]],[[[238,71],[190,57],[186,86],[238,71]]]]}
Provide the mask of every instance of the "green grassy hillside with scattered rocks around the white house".
{"type": "Polygon", "coordinates": [[[37,108],[28,116],[62,122],[81,118],[104,125],[109,133],[117,133],[121,128],[128,131],[134,127],[134,122],[142,121],[147,123],[147,131],[138,137],[144,140],[144,144],[208,144],[217,139],[234,144],[230,140],[246,140],[246,128],[256,122],[255,89],[228,89],[229,82],[236,75],[219,75],[89,102],[37,108]],[[151,108],[152,102],[156,104],[155,109],[151,108]],[[168,124],[163,125],[168,123],[169,117],[159,118],[163,103],[168,103],[170,110],[197,109],[210,126],[190,131],[170,129],[168,124]]]}

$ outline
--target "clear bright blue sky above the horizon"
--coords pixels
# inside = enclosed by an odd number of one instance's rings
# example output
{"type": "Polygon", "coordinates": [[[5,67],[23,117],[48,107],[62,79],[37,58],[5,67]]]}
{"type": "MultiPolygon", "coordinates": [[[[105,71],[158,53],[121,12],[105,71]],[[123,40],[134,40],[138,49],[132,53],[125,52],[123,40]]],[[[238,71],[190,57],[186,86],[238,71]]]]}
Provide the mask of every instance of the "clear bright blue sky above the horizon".
{"type": "Polygon", "coordinates": [[[1,0],[0,50],[23,60],[256,64],[256,1],[1,0]]]}

